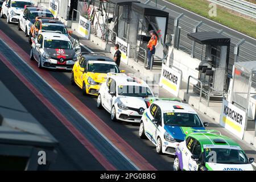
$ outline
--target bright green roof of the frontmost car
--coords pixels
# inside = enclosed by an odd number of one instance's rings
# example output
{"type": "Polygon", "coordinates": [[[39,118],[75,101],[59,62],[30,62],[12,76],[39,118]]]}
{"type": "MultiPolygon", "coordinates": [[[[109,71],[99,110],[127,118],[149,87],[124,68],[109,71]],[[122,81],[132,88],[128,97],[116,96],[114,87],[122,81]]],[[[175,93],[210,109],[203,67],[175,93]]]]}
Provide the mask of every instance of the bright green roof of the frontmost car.
{"type": "Polygon", "coordinates": [[[192,133],[189,134],[188,137],[193,137],[198,140],[203,147],[204,144],[208,145],[225,145],[225,146],[239,146],[238,143],[234,142],[234,140],[229,137],[215,134],[215,133],[192,133]]]}

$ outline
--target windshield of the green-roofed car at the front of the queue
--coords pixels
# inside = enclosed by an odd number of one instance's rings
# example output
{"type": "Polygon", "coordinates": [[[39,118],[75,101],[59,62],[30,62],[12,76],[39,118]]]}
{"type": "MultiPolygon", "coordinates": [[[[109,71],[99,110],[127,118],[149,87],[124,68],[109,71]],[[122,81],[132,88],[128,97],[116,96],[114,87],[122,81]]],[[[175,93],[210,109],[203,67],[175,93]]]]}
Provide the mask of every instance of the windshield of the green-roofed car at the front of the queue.
{"type": "Polygon", "coordinates": [[[205,148],[205,162],[218,164],[248,164],[242,150],[231,148],[205,148]]]}

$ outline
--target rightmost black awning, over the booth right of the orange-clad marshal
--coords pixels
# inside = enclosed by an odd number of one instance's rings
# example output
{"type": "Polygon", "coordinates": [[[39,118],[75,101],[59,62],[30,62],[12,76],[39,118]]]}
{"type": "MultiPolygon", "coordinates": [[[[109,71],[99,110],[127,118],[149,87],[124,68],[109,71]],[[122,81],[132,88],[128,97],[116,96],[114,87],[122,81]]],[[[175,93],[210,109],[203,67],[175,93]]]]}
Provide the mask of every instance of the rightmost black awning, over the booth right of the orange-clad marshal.
{"type": "Polygon", "coordinates": [[[188,38],[196,43],[214,46],[229,46],[230,38],[218,34],[218,32],[196,32],[188,34],[188,38]]]}

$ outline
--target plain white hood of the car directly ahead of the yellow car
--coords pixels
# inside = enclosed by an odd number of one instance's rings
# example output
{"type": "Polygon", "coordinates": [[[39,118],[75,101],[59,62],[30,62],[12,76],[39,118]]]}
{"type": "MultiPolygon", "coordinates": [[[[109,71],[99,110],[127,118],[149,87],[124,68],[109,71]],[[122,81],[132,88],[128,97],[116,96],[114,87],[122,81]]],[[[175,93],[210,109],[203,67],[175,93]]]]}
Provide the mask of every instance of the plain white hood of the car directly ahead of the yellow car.
{"type": "Polygon", "coordinates": [[[147,109],[146,102],[143,97],[127,97],[119,96],[118,99],[127,107],[147,109]]]}

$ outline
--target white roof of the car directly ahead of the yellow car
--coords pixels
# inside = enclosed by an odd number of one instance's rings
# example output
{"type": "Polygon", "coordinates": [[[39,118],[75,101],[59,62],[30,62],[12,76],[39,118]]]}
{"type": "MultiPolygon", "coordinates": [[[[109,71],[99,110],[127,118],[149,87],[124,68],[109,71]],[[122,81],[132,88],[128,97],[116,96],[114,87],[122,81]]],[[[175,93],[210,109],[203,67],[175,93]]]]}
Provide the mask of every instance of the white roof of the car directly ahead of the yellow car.
{"type": "Polygon", "coordinates": [[[117,85],[146,86],[149,88],[147,83],[142,79],[128,76],[125,73],[108,73],[108,77],[113,78],[117,85]]]}

